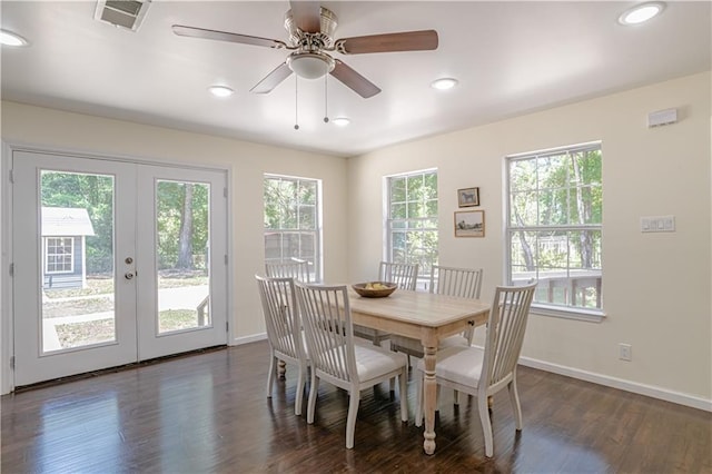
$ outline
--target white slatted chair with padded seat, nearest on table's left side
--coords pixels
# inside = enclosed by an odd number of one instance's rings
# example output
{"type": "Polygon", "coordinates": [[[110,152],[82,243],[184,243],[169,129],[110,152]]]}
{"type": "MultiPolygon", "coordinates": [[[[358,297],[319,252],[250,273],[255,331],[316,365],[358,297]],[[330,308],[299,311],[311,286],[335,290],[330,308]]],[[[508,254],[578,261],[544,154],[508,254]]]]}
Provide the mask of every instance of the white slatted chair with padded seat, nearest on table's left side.
{"type": "Polygon", "coordinates": [[[297,282],[295,286],[312,361],[307,423],[314,423],[320,381],[348,391],[346,448],[353,448],[360,391],[394,377],[398,377],[399,382],[400,419],[407,422],[405,355],[366,342],[359,343],[354,337],[348,292],[345,285],[309,285],[297,282]]]}

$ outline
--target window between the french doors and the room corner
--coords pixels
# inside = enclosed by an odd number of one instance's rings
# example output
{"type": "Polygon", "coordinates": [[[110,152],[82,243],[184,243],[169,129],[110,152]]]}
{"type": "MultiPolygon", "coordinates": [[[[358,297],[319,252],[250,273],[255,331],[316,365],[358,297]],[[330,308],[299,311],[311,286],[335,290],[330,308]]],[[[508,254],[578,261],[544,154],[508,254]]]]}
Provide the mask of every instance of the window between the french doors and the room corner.
{"type": "Polygon", "coordinates": [[[265,175],[266,261],[307,260],[320,280],[320,180],[265,175]]]}

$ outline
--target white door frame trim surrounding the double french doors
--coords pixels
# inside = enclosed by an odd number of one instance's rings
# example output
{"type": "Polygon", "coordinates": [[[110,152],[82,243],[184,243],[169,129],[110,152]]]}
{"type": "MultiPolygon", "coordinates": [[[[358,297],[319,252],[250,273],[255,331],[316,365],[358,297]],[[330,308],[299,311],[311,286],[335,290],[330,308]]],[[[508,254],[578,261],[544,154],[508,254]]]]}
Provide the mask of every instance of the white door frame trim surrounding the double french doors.
{"type": "MultiPolygon", "coordinates": [[[[11,182],[11,164],[13,151],[29,151],[39,154],[56,154],[77,158],[102,159],[113,161],[125,161],[136,165],[152,165],[178,168],[195,168],[202,170],[222,171],[226,174],[226,194],[227,194],[227,287],[233,287],[234,268],[233,268],[233,206],[231,206],[231,182],[233,167],[205,166],[197,162],[182,162],[177,160],[161,160],[151,158],[116,156],[109,154],[88,154],[86,151],[72,150],[61,147],[44,147],[37,145],[28,145],[12,141],[1,141],[0,152],[0,395],[8,394],[14,389],[12,354],[14,354],[14,344],[12,340],[12,277],[11,266],[13,263],[12,249],[12,182],[11,182]]],[[[234,340],[234,292],[227,292],[227,344],[234,340]]]]}

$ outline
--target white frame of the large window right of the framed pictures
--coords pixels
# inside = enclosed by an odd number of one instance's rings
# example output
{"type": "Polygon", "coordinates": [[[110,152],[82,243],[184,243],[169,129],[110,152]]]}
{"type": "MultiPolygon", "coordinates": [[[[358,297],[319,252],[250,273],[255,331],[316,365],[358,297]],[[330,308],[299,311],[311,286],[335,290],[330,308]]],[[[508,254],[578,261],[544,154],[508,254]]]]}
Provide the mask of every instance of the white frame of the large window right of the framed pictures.
{"type": "MultiPolygon", "coordinates": [[[[601,248],[601,254],[603,254],[603,245],[604,245],[603,243],[603,235],[604,235],[603,234],[604,233],[603,201],[601,204],[602,206],[601,220],[597,224],[567,223],[566,225],[540,225],[537,223],[536,225],[525,225],[525,226],[513,226],[511,224],[512,223],[512,199],[513,199],[511,162],[523,161],[527,159],[540,159],[540,158],[546,158],[552,156],[560,156],[564,154],[571,154],[571,152],[591,151],[591,150],[599,150],[601,152],[601,172],[603,172],[603,147],[600,140],[571,145],[571,146],[556,147],[556,148],[548,148],[548,149],[536,150],[536,151],[528,151],[528,152],[516,154],[516,155],[508,155],[505,157],[504,165],[503,165],[503,180],[504,180],[503,234],[504,234],[504,243],[505,243],[504,249],[503,249],[504,250],[503,275],[505,278],[505,284],[507,285],[513,284],[512,246],[513,246],[513,239],[517,231],[522,231],[522,230],[531,231],[531,233],[562,231],[570,235],[572,233],[576,233],[581,230],[596,230],[601,235],[600,248],[601,248]]],[[[601,192],[603,194],[603,189],[604,189],[603,176],[601,176],[601,180],[597,184],[597,186],[600,186],[601,192]]],[[[572,188],[571,186],[567,187],[567,189],[571,189],[571,188],[572,188]]],[[[537,184],[536,191],[538,190],[540,190],[540,187],[537,184]]],[[[567,251],[567,255],[571,255],[571,250],[567,251]]],[[[601,292],[599,294],[599,297],[601,298],[600,307],[587,308],[583,306],[572,306],[570,304],[557,305],[557,304],[546,304],[542,302],[533,302],[532,313],[545,315],[545,316],[563,317],[568,319],[580,319],[580,320],[587,320],[587,322],[603,320],[603,318],[606,315],[605,315],[604,303],[603,303],[604,265],[603,265],[602,255],[600,256],[600,267],[601,267],[600,284],[599,284],[599,288],[601,292]]],[[[538,265],[538,261],[537,261],[535,271],[538,273],[540,268],[541,266],[538,265]]],[[[572,267],[571,265],[566,267],[567,282],[570,278],[570,271],[572,269],[575,269],[575,267],[572,267]]],[[[567,288],[568,288],[568,285],[567,285],[567,288]]]]}

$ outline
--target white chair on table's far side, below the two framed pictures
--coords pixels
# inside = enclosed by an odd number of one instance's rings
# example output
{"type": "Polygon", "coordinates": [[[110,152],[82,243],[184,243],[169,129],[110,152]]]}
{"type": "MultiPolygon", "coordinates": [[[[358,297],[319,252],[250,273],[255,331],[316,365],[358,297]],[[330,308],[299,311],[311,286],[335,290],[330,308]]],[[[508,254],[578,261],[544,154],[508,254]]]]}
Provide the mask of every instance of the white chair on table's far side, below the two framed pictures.
{"type": "MultiPolygon", "coordinates": [[[[433,265],[428,289],[438,295],[458,296],[461,298],[479,299],[482,289],[482,268],[455,268],[433,265]]],[[[472,327],[461,335],[447,337],[441,342],[441,348],[451,345],[469,346],[475,328],[472,327]]],[[[423,345],[419,339],[392,335],[390,349],[423,358],[423,345]]]]}

